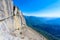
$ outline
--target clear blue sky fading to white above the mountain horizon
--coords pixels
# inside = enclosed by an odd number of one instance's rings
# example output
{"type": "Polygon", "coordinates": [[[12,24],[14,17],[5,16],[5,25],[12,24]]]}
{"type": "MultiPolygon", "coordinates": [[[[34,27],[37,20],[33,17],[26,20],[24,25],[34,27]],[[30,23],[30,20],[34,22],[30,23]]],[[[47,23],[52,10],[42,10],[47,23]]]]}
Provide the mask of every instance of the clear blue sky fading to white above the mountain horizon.
{"type": "Polygon", "coordinates": [[[60,0],[13,0],[24,15],[60,17],[60,0]]]}

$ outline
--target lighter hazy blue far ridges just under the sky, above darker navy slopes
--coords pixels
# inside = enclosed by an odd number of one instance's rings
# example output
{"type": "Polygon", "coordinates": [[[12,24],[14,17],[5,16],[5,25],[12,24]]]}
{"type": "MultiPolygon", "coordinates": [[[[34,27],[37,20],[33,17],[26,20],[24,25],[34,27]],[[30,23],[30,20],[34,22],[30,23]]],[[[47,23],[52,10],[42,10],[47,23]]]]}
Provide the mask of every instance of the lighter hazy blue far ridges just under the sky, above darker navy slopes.
{"type": "Polygon", "coordinates": [[[29,23],[60,25],[60,18],[44,18],[34,16],[25,16],[25,18],[29,21],[29,23]]]}

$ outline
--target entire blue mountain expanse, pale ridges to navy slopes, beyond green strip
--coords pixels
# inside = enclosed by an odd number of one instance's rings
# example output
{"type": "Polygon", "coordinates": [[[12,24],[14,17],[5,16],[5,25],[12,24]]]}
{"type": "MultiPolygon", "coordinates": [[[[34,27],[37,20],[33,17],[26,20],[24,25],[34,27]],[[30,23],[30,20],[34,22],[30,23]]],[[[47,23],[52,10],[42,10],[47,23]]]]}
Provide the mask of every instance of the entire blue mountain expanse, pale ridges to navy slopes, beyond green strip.
{"type": "Polygon", "coordinates": [[[36,30],[44,30],[60,38],[60,18],[43,18],[34,16],[24,16],[28,26],[36,30]]]}

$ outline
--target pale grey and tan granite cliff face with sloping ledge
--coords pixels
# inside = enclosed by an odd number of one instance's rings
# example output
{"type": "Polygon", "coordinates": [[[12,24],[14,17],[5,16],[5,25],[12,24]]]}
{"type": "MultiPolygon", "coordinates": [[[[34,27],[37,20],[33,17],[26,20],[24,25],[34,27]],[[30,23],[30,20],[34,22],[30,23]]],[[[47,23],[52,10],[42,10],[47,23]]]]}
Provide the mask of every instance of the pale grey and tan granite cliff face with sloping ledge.
{"type": "Polygon", "coordinates": [[[0,0],[0,40],[47,40],[26,25],[12,0],[0,0]]]}

